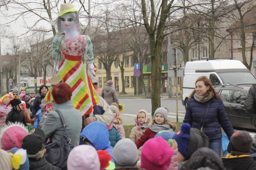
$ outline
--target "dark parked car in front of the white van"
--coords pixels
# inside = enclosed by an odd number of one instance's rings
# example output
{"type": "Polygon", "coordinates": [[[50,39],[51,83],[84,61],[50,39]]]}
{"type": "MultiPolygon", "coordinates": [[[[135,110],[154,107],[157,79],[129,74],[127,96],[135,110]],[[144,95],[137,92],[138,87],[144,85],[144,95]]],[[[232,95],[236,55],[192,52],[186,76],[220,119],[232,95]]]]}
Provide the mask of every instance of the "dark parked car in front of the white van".
{"type": "Polygon", "coordinates": [[[251,86],[252,84],[215,86],[233,127],[256,129],[256,114],[246,111],[243,104],[251,86]]]}

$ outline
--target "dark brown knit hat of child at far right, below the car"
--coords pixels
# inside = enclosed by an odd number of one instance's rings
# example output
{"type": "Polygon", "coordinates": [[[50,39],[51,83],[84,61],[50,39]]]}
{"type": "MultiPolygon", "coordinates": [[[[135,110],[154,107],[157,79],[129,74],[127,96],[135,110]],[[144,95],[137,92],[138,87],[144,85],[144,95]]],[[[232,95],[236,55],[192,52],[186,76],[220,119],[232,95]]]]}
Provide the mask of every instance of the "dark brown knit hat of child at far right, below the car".
{"type": "Polygon", "coordinates": [[[228,152],[237,151],[249,153],[252,147],[252,137],[246,131],[236,131],[230,138],[228,152]]]}

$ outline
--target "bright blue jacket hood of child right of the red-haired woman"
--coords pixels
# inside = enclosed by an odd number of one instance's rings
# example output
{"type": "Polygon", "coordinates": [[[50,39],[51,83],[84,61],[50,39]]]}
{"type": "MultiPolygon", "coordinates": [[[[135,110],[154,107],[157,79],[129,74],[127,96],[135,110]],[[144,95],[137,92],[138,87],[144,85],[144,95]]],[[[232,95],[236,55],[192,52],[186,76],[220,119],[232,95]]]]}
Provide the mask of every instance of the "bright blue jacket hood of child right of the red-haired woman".
{"type": "Polygon", "coordinates": [[[108,128],[100,121],[94,121],[84,127],[81,137],[88,139],[96,150],[108,150],[112,156],[113,148],[110,146],[108,128]]]}

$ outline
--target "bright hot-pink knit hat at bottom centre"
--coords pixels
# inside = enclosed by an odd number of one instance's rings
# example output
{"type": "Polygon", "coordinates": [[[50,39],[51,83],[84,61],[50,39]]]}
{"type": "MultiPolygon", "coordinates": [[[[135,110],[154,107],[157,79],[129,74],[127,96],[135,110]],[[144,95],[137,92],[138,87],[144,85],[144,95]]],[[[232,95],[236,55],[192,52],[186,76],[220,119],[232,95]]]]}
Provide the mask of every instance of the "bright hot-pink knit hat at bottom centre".
{"type": "Polygon", "coordinates": [[[162,137],[146,141],[141,150],[141,167],[146,170],[166,170],[172,161],[173,150],[162,137]]]}

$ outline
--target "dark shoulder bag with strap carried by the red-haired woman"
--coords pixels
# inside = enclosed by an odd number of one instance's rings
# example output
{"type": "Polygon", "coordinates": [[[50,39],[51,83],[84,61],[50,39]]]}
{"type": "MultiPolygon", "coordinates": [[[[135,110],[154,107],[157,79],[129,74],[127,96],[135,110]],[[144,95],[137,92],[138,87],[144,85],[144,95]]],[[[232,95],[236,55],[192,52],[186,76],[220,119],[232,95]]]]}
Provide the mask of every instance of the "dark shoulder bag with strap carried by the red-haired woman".
{"type": "Polygon", "coordinates": [[[59,141],[46,145],[46,154],[44,157],[50,164],[57,166],[62,170],[66,170],[68,154],[74,148],[74,146],[71,144],[71,139],[67,131],[67,125],[62,113],[59,110],[56,110],[56,112],[60,116],[60,120],[67,134],[67,138],[63,136],[59,141]]]}

